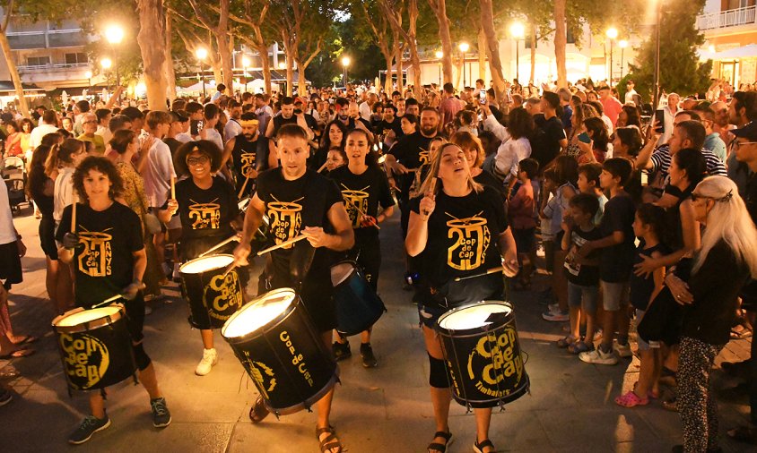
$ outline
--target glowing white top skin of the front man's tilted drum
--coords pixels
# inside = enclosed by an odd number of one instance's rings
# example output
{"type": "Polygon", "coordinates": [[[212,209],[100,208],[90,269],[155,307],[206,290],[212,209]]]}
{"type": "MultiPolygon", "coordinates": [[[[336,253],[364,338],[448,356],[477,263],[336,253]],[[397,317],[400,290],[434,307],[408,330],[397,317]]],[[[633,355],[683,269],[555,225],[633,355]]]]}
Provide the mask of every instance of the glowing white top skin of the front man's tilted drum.
{"type": "Polygon", "coordinates": [[[246,304],[226,321],[221,330],[223,338],[240,338],[264,327],[286,311],[294,302],[294,290],[281,288],[265,293],[246,304]]]}

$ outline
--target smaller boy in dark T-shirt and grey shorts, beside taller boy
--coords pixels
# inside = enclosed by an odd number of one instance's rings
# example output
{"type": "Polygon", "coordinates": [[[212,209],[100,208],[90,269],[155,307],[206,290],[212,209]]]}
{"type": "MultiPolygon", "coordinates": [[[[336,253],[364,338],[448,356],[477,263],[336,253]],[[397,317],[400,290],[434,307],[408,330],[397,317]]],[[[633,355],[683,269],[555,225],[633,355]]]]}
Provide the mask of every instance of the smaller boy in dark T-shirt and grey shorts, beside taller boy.
{"type": "Polygon", "coordinates": [[[599,209],[599,201],[592,193],[579,193],[570,199],[570,218],[562,222],[562,250],[565,256],[565,275],[568,278],[568,307],[570,310],[570,335],[557,342],[557,346],[570,347],[572,354],[579,354],[594,349],[594,330],[596,325],[596,301],[599,295],[599,251],[584,257],[579,256],[579,249],[587,241],[602,238],[602,233],[594,224],[594,216],[599,209]],[[572,220],[572,221],[571,221],[572,220]],[[585,340],[579,333],[581,316],[586,318],[587,330],[585,340]]]}

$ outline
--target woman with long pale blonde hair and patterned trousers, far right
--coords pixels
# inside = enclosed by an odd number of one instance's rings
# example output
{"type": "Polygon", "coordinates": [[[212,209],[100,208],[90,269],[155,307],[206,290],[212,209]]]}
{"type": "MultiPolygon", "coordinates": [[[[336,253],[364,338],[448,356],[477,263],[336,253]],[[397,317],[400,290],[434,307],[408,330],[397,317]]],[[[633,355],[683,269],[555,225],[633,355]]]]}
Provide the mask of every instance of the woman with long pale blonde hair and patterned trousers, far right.
{"type": "Polygon", "coordinates": [[[687,307],[677,374],[683,445],[674,451],[718,451],[717,403],[709,373],[729,341],[739,291],[750,277],[757,278],[757,231],[738,188],[726,176],[705,178],[692,201],[697,221],[705,226],[692,275],[688,282],[672,273],[666,276],[675,301],[687,307]]]}

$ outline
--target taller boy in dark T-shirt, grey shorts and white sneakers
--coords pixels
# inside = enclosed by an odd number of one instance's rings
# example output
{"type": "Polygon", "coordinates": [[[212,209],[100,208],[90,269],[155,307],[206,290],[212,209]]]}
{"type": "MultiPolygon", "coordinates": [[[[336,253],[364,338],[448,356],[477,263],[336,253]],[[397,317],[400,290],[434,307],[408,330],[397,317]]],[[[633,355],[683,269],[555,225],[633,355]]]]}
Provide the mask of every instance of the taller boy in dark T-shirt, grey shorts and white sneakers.
{"type": "Polygon", "coordinates": [[[588,241],[579,249],[579,256],[587,257],[596,249],[602,250],[599,279],[602,286],[605,315],[602,343],[590,352],[584,352],[579,358],[586,363],[614,365],[618,357],[613,353],[615,327],[618,328],[618,350],[622,356],[631,355],[628,345],[628,306],[629,280],[633,269],[633,257],[636,255],[633,235],[633,219],[636,207],[631,196],[623,190],[623,185],[631,176],[633,167],[627,158],[609,158],[605,160],[600,184],[610,192],[610,200],[605,203],[605,214],[599,224],[602,239],[588,241]],[[619,323],[616,322],[619,319],[619,323]]]}

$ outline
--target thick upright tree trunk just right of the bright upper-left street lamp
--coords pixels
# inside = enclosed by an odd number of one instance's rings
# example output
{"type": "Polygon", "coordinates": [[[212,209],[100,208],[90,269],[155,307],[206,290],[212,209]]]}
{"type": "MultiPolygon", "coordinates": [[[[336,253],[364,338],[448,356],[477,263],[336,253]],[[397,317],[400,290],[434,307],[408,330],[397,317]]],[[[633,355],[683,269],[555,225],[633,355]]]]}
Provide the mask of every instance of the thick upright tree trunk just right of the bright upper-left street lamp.
{"type": "Polygon", "coordinates": [[[138,0],[139,34],[136,42],[142,51],[144,84],[147,87],[147,104],[150,110],[168,110],[166,106],[166,51],[155,43],[166,42],[165,20],[161,0],[138,0]]]}

